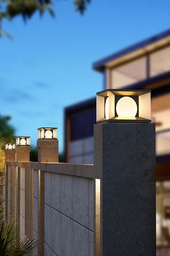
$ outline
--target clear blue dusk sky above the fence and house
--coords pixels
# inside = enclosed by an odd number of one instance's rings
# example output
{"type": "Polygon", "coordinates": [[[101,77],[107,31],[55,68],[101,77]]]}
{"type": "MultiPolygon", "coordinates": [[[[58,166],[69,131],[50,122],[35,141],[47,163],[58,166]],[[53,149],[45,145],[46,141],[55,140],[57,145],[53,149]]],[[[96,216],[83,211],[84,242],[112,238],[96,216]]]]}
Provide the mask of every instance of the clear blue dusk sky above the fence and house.
{"type": "Polygon", "coordinates": [[[36,144],[38,127],[58,127],[63,108],[95,96],[102,75],[91,65],[132,43],[170,28],[169,0],[91,0],[84,16],[73,1],[55,1],[55,19],[36,14],[5,22],[0,39],[0,114],[12,116],[16,135],[36,144]]]}

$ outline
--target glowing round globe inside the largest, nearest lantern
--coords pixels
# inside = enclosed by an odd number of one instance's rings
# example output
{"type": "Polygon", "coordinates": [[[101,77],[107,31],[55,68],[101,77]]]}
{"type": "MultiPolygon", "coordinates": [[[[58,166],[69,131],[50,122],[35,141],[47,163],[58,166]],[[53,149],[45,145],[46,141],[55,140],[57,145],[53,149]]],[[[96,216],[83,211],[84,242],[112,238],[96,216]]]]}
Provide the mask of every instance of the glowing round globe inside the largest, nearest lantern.
{"type": "Polygon", "coordinates": [[[117,116],[135,117],[138,112],[138,106],[133,98],[125,96],[117,102],[116,111],[117,116]]]}

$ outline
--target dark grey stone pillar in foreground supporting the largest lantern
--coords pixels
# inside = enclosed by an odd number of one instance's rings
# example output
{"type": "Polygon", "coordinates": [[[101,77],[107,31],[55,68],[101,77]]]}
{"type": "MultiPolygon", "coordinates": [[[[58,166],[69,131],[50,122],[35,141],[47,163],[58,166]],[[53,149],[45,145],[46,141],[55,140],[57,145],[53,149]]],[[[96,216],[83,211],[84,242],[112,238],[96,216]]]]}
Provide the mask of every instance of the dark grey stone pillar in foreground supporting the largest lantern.
{"type": "Polygon", "coordinates": [[[155,124],[94,126],[101,255],[156,255],[155,124]]]}

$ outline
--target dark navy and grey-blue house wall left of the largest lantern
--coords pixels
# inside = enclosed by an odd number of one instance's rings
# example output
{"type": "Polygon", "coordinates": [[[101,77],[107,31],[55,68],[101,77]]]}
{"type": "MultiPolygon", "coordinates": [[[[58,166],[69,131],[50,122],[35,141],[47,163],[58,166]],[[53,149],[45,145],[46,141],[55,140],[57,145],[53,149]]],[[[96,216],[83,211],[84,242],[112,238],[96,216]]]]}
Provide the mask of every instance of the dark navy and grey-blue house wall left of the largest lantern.
{"type": "Polygon", "coordinates": [[[66,159],[70,163],[94,163],[94,124],[96,123],[96,99],[84,104],[66,108],[66,129],[68,152],[66,159]]]}

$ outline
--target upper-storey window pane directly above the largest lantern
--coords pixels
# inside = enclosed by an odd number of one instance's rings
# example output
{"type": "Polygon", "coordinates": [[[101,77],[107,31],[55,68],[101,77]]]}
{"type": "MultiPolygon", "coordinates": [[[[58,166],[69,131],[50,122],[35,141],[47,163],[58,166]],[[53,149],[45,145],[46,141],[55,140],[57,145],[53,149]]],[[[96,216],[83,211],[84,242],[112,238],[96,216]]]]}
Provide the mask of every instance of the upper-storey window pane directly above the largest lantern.
{"type": "Polygon", "coordinates": [[[146,57],[123,64],[112,69],[112,88],[122,88],[146,79],[146,57]]]}

